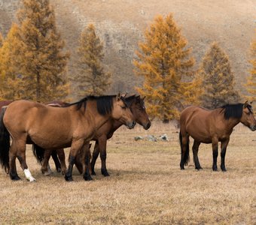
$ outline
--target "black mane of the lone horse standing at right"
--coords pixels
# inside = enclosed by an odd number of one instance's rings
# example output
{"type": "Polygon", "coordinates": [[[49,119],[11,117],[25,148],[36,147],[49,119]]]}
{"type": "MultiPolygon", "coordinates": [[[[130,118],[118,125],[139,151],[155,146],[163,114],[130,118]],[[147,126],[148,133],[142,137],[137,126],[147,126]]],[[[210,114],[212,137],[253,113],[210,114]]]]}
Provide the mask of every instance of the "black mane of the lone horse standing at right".
{"type": "MultiPolygon", "coordinates": [[[[241,118],[244,104],[227,104],[221,107],[224,110],[224,118],[241,118]]],[[[252,113],[251,105],[248,104],[248,110],[252,113]]]]}

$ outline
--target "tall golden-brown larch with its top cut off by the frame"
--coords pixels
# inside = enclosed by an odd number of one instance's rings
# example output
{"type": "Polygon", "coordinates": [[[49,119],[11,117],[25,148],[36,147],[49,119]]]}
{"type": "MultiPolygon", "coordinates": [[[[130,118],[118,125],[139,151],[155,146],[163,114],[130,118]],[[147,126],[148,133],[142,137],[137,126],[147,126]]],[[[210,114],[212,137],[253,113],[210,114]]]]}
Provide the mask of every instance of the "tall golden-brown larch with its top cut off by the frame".
{"type": "Polygon", "coordinates": [[[23,98],[47,102],[69,94],[66,65],[69,53],[56,29],[49,0],[23,0],[18,11],[20,23],[20,74],[23,98]]]}

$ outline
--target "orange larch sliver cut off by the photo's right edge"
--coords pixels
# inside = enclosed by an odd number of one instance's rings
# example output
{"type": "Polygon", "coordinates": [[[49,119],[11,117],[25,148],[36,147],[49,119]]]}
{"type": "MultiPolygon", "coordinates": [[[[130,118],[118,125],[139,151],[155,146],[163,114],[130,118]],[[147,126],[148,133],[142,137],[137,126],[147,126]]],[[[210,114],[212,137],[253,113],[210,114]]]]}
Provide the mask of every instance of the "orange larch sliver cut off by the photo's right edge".
{"type": "MultiPolygon", "coordinates": [[[[256,38],[251,42],[251,70],[250,76],[247,79],[246,89],[251,96],[249,97],[251,101],[256,100],[256,38]]],[[[248,97],[247,97],[248,98],[248,97]]]]}

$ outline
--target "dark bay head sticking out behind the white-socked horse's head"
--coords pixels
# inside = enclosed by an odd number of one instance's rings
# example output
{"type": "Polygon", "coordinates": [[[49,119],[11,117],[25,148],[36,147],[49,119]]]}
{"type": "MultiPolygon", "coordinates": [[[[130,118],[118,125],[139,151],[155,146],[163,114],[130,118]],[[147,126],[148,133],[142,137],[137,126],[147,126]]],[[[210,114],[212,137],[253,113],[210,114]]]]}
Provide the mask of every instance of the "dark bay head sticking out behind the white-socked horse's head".
{"type": "Polygon", "coordinates": [[[133,95],[130,98],[126,98],[126,101],[131,101],[130,110],[133,113],[135,121],[142,125],[145,130],[148,130],[148,128],[151,127],[151,121],[146,113],[144,99],[145,98],[140,98],[139,95],[133,95]]]}

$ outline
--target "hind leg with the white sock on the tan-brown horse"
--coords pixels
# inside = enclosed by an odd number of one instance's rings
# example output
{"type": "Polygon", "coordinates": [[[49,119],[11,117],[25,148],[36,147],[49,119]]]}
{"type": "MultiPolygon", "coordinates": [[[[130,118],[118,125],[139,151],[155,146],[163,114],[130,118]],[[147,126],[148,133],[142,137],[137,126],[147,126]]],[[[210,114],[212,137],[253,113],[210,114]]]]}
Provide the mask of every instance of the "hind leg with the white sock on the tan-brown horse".
{"type": "Polygon", "coordinates": [[[29,181],[35,181],[31,172],[29,171],[29,167],[26,164],[26,138],[20,139],[17,143],[17,158],[20,161],[20,166],[23,169],[23,172],[26,176],[26,179],[29,181]]]}

